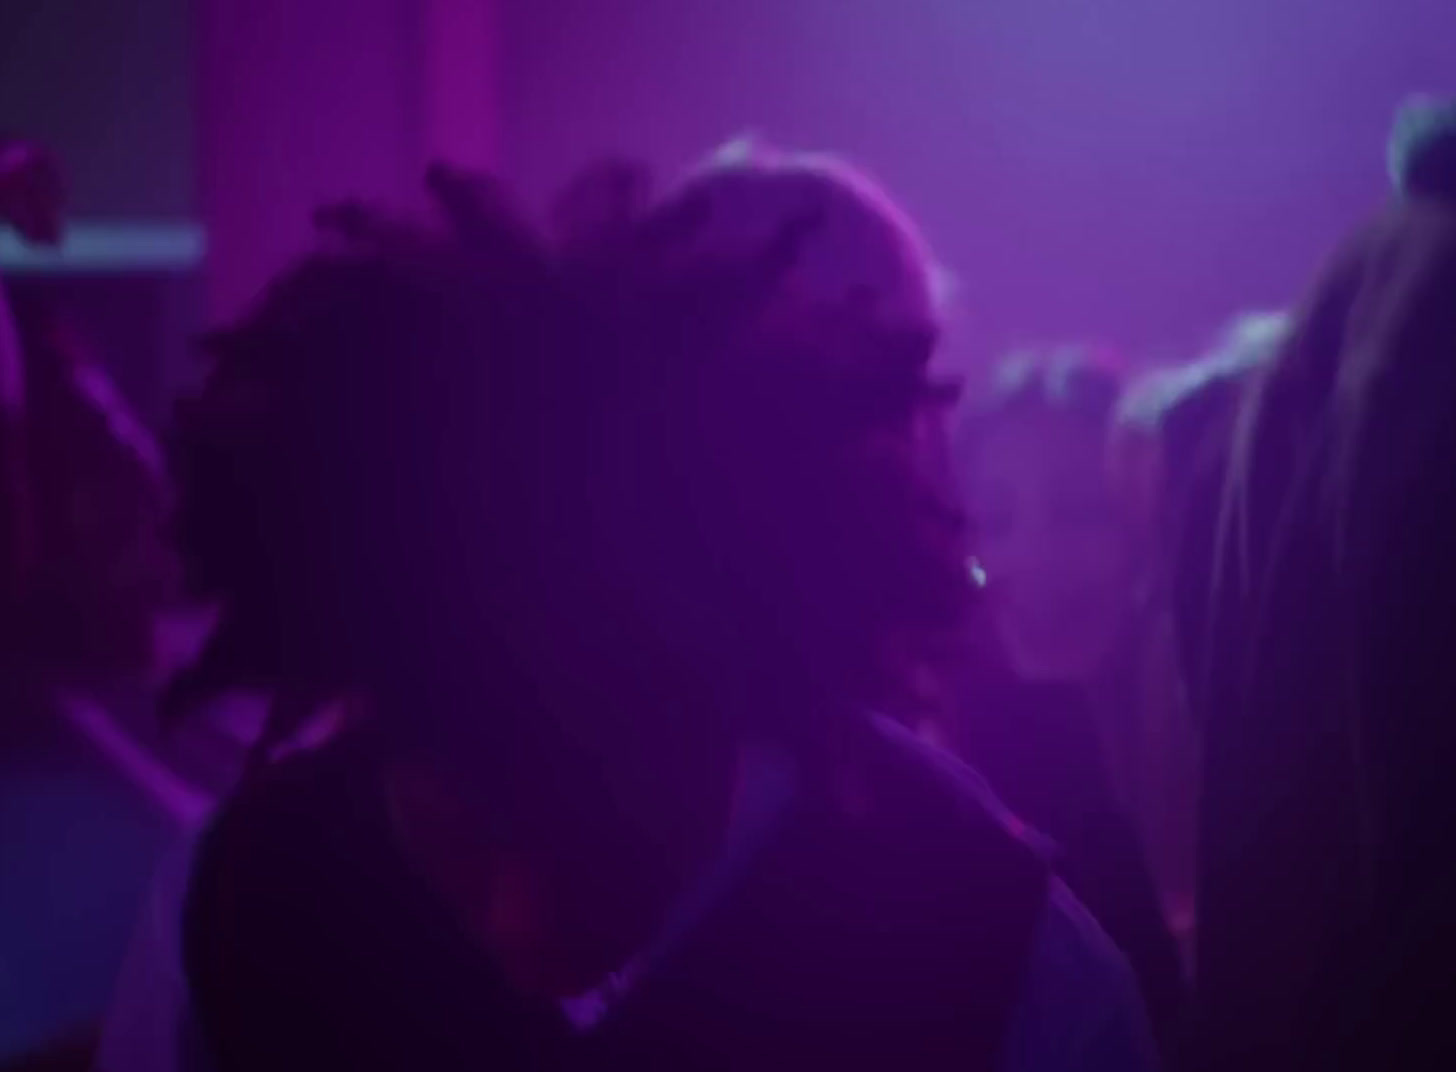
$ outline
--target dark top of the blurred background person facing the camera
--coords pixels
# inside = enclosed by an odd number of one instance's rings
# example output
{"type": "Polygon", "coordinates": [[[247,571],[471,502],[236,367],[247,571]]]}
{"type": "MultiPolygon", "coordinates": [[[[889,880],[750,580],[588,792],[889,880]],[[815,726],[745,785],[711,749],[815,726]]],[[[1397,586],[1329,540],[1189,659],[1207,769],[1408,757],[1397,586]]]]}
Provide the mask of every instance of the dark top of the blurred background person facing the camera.
{"type": "Polygon", "coordinates": [[[1178,945],[1108,782],[1088,702],[1075,687],[992,670],[967,677],[962,698],[958,752],[1056,843],[1057,872],[1128,958],[1155,1033],[1171,1041],[1187,996],[1178,945]]]}

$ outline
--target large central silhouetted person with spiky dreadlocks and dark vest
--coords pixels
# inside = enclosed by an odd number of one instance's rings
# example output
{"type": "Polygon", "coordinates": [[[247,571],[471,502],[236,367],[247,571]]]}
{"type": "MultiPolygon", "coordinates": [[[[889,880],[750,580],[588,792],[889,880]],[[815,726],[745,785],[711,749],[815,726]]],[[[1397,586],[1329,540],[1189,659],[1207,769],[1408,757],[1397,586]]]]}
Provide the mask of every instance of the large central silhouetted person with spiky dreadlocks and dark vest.
{"type": "MultiPolygon", "coordinates": [[[[930,272],[868,182],[719,159],[553,252],[437,170],[211,342],[181,690],[278,728],[199,848],[226,1072],[1146,1069],[1136,983],[974,776],[869,711],[967,596],[930,272]]],[[[603,211],[606,207],[606,211],[603,211]]]]}

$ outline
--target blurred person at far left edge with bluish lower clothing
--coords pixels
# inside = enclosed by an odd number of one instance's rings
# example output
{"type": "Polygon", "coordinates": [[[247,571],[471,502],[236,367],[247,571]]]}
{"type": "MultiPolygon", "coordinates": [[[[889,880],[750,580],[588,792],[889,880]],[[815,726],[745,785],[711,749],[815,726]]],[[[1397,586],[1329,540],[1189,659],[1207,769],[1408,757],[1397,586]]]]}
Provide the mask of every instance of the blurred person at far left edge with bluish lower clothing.
{"type": "MultiPolygon", "coordinates": [[[[55,243],[51,156],[0,144],[0,226],[55,243]]],[[[172,838],[84,727],[149,708],[167,599],[156,447],[61,320],[0,287],[0,1062],[87,1068],[134,906],[172,838]],[[140,687],[138,687],[140,686],[140,687]],[[105,698],[105,705],[96,704],[105,698]]]]}

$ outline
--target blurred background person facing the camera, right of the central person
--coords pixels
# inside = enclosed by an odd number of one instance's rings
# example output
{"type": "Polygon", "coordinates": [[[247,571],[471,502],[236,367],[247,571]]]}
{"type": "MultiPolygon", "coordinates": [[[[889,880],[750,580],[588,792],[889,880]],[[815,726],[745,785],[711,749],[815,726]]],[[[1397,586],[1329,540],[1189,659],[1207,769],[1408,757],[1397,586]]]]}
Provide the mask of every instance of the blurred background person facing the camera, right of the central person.
{"type": "Polygon", "coordinates": [[[1032,352],[965,411],[957,463],[986,597],[948,743],[1057,843],[1172,1044],[1184,977],[1150,867],[1165,757],[1146,711],[1143,556],[1108,459],[1123,385],[1104,355],[1032,352]]]}

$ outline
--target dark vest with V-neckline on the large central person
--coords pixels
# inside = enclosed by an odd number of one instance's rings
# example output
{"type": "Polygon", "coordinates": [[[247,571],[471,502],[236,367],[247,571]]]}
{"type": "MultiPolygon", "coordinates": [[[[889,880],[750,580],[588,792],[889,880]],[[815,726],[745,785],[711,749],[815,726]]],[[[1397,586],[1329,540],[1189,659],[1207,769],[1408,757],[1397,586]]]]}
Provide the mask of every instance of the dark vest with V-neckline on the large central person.
{"type": "Polygon", "coordinates": [[[954,763],[871,730],[866,808],[798,794],[737,886],[574,1030],[514,992],[392,845],[347,743],[246,785],[185,929],[221,1072],[994,1069],[1047,902],[954,763]]]}

